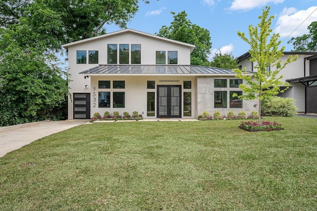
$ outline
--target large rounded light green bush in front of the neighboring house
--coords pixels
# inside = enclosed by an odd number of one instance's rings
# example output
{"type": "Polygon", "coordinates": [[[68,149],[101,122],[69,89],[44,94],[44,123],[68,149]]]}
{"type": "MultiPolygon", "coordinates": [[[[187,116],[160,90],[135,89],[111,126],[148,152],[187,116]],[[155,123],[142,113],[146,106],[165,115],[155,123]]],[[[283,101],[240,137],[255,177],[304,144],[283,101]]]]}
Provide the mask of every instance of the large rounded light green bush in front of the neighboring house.
{"type": "Polygon", "coordinates": [[[294,116],[298,108],[295,106],[295,99],[271,97],[262,101],[263,115],[294,116]]]}

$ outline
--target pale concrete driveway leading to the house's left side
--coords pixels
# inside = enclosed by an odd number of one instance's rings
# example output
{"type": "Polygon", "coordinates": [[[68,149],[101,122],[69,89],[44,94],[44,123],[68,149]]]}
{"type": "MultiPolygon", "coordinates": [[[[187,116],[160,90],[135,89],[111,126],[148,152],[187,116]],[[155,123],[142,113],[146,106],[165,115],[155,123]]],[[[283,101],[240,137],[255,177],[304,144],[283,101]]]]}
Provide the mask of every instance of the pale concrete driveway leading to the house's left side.
{"type": "Polygon", "coordinates": [[[88,122],[89,119],[40,121],[0,127],[0,157],[45,136],[88,122]]]}

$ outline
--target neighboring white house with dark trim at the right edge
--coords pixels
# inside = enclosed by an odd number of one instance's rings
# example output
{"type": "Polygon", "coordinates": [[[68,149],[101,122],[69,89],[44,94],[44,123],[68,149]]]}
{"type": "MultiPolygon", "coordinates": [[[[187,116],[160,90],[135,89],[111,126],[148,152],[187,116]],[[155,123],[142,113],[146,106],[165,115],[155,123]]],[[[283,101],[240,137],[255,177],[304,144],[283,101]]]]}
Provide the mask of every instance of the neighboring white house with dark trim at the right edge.
{"type": "MultiPolygon", "coordinates": [[[[317,113],[317,52],[284,52],[280,58],[282,63],[289,55],[298,55],[298,59],[286,65],[280,71],[283,80],[289,82],[289,89],[280,93],[281,97],[291,97],[296,100],[299,112],[317,113]]],[[[250,62],[250,53],[245,53],[237,58],[241,68],[255,71],[253,62],[250,62]]],[[[275,67],[268,67],[273,71],[275,67]]]]}

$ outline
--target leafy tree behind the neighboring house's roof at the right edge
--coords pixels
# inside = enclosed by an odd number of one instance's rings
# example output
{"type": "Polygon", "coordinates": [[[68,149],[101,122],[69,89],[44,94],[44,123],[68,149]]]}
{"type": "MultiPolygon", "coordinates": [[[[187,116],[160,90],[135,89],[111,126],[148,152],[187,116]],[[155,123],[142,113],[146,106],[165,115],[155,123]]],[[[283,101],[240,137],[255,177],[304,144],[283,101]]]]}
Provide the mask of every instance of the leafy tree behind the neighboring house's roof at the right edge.
{"type": "Polygon", "coordinates": [[[309,34],[292,38],[288,43],[293,43],[294,51],[306,52],[317,51],[317,21],[312,22],[309,26],[309,34]]]}

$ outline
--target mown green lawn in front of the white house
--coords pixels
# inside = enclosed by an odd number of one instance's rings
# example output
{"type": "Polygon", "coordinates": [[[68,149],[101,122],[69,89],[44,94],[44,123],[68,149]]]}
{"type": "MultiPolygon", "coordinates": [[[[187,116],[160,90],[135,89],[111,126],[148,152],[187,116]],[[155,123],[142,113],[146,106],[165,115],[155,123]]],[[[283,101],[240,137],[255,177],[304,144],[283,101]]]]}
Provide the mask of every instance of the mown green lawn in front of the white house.
{"type": "MultiPolygon", "coordinates": [[[[317,119],[80,125],[0,158],[0,210],[317,210],[317,119]]],[[[23,138],[23,137],[21,137],[23,138]]]]}

